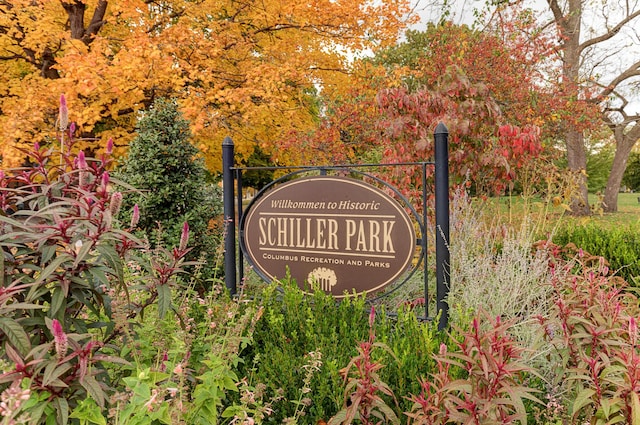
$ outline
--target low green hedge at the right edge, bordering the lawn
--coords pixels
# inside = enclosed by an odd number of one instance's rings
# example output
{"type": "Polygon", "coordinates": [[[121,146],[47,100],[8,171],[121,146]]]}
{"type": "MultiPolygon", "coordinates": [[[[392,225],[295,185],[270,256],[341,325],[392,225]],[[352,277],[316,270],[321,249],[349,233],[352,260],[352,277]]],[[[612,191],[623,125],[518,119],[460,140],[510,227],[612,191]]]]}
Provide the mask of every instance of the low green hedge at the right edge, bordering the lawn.
{"type": "Polygon", "coordinates": [[[595,224],[564,227],[553,237],[553,242],[604,257],[609,269],[633,284],[640,276],[640,233],[631,228],[604,228],[595,224]]]}

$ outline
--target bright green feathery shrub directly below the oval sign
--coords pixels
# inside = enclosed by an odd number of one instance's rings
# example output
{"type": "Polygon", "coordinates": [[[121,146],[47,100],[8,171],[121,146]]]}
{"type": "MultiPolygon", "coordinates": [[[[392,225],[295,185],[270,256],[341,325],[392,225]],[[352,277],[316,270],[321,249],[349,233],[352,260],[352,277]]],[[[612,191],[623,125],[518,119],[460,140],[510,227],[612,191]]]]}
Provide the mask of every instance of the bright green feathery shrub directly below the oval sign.
{"type": "MultiPolygon", "coordinates": [[[[306,417],[300,423],[328,420],[344,401],[340,370],[369,335],[365,300],[349,297],[336,302],[321,292],[305,296],[297,286],[283,283],[282,291],[268,286],[256,302],[264,313],[250,350],[243,354],[244,367],[239,374],[266,385],[265,397],[275,400],[269,423],[299,415],[300,407],[292,401],[306,391],[302,399],[312,402],[304,407],[306,417]],[[320,355],[322,364],[305,383],[310,353],[320,355]]],[[[390,352],[376,354],[376,360],[387,365],[380,371],[381,379],[398,394],[419,392],[416,377],[434,367],[431,353],[448,337],[437,332],[435,323],[420,322],[409,310],[401,310],[397,316],[381,311],[375,331],[377,339],[390,348],[390,352]]],[[[408,399],[398,401],[399,411],[411,405],[408,399]]]]}

